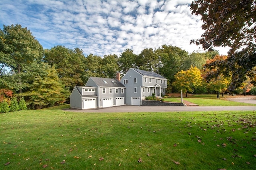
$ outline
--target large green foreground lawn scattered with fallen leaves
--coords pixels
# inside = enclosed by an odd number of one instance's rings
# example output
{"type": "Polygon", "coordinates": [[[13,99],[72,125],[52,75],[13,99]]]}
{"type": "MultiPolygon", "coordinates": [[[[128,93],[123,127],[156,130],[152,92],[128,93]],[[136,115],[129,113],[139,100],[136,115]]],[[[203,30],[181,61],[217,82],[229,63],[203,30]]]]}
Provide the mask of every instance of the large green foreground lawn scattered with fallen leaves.
{"type": "Polygon", "coordinates": [[[256,168],[254,111],[79,113],[60,109],[67,107],[0,114],[0,169],[35,170],[43,165],[62,170],[256,168]]]}

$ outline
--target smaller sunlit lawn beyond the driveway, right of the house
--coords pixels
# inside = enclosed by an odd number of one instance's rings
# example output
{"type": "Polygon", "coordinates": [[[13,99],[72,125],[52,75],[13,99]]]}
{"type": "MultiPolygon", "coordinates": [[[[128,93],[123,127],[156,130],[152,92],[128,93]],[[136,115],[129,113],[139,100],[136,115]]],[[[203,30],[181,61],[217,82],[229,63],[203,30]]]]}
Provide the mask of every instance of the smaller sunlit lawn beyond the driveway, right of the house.
{"type": "MultiPolygon", "coordinates": [[[[248,104],[242,102],[233,102],[227,100],[226,97],[221,97],[219,99],[216,98],[216,95],[193,95],[188,98],[183,97],[183,101],[186,100],[193,104],[197,104],[198,106],[256,106],[256,104],[248,104]]],[[[175,98],[164,98],[164,101],[167,102],[181,102],[180,97],[175,98]]]]}

